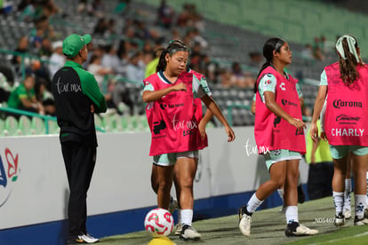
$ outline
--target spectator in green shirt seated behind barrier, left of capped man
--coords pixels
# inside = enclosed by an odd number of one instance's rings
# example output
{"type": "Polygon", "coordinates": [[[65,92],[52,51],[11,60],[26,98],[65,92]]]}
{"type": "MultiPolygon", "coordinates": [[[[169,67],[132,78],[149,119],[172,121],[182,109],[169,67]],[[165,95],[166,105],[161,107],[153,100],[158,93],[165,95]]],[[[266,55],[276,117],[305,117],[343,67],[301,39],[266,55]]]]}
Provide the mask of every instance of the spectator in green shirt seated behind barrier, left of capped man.
{"type": "Polygon", "coordinates": [[[44,115],[44,107],[36,99],[35,75],[30,69],[27,69],[23,83],[20,83],[10,94],[8,107],[44,115]]]}

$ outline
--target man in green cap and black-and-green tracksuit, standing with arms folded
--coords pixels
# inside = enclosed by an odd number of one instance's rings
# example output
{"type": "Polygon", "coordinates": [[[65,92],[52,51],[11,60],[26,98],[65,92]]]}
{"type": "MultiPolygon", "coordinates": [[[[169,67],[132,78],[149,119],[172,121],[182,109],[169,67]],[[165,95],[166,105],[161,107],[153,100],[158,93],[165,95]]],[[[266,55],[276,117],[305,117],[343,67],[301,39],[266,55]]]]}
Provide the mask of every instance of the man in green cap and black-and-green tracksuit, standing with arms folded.
{"type": "Polygon", "coordinates": [[[60,126],[60,145],[70,189],[68,243],[99,241],[86,231],[86,198],[96,162],[93,113],[106,112],[106,100],[94,76],[85,71],[86,44],[91,36],[73,34],[63,41],[65,66],[52,78],[52,94],[60,126]]]}

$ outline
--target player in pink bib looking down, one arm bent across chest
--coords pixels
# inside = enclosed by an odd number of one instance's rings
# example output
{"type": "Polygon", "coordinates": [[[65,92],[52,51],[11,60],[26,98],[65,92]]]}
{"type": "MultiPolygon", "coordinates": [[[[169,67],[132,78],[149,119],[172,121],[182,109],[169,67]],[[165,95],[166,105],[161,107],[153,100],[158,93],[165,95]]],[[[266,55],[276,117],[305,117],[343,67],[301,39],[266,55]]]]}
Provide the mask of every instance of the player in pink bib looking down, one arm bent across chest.
{"type": "Polygon", "coordinates": [[[173,179],[173,166],[178,164],[180,176],[180,207],[183,224],[180,239],[199,240],[201,235],[191,226],[193,217],[193,180],[198,154],[198,122],[195,99],[199,97],[225,126],[228,142],[235,139],[234,131],[209,97],[196,75],[188,73],[188,48],[170,43],[160,55],[157,73],[144,80],[143,101],[148,103],[146,114],[152,133],[150,155],[157,165],[157,206],[168,209],[173,179]]]}

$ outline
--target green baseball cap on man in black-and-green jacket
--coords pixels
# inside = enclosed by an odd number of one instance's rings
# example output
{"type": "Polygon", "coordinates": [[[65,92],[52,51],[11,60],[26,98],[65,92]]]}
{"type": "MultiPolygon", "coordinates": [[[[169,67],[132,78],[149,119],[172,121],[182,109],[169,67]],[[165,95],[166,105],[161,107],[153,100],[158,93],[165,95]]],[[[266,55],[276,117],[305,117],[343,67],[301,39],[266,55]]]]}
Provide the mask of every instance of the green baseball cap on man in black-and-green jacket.
{"type": "Polygon", "coordinates": [[[70,58],[76,56],[78,51],[80,51],[85,44],[91,43],[92,37],[89,34],[84,36],[79,36],[72,34],[64,39],[62,42],[62,52],[70,58]]]}

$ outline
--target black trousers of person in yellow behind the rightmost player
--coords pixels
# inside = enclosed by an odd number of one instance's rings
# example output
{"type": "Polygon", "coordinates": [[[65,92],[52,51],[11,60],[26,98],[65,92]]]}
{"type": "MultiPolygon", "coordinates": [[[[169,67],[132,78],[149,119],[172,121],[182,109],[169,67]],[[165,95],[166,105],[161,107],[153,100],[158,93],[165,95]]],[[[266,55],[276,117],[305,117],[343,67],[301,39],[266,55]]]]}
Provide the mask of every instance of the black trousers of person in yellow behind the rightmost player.
{"type": "Polygon", "coordinates": [[[309,164],[308,195],[315,200],[332,195],[333,162],[309,164]]]}

